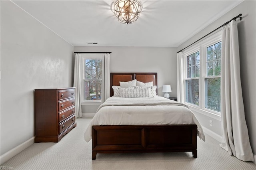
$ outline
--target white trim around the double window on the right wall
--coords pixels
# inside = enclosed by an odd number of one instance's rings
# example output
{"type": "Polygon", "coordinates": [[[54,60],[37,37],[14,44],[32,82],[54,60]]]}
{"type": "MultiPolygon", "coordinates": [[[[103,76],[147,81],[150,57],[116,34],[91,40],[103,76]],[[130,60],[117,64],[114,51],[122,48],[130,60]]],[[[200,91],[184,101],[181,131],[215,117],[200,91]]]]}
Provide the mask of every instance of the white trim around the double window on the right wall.
{"type": "MultiPolygon", "coordinates": [[[[201,113],[203,115],[212,117],[214,119],[220,120],[220,112],[211,110],[211,109],[207,109],[204,106],[204,100],[205,100],[205,87],[202,87],[202,85],[204,85],[204,79],[206,78],[206,59],[202,56],[206,56],[206,47],[214,44],[214,43],[218,43],[221,41],[221,29],[216,31],[214,34],[212,34],[211,36],[208,36],[207,38],[205,38],[204,40],[195,43],[194,45],[192,45],[191,47],[185,49],[183,51],[183,55],[184,55],[184,103],[186,105],[188,105],[192,111],[196,111],[198,113],[201,113]],[[200,77],[199,77],[199,105],[194,105],[192,103],[188,103],[186,102],[186,78],[187,78],[187,58],[186,56],[195,53],[196,51],[200,51],[200,77]],[[201,64],[202,63],[202,64],[201,64]]],[[[218,76],[212,76],[212,78],[214,77],[218,77],[218,76]]]]}

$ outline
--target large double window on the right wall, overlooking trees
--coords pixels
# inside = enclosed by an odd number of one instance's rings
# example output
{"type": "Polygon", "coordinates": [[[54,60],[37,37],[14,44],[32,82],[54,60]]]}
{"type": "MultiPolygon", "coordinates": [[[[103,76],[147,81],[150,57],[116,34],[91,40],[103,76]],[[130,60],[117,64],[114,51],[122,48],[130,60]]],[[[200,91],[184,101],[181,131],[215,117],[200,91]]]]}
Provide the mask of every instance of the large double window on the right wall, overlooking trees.
{"type": "Polygon", "coordinates": [[[220,34],[184,51],[184,65],[186,104],[220,115],[220,34]]]}

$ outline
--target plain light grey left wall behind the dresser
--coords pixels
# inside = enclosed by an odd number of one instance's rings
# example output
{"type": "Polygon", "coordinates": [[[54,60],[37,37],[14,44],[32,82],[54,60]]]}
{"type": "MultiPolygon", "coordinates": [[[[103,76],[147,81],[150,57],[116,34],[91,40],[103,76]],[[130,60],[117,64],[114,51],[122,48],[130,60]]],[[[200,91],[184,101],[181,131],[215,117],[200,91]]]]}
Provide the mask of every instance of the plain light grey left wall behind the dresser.
{"type": "Polygon", "coordinates": [[[34,136],[34,89],[72,87],[73,49],[1,1],[1,156],[34,136]]]}

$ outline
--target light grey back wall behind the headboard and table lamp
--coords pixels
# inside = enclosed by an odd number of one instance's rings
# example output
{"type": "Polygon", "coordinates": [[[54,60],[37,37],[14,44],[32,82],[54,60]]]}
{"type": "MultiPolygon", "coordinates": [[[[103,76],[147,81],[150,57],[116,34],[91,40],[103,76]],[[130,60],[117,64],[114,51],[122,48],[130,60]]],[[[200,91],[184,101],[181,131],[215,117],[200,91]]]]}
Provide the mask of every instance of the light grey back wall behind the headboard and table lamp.
{"type": "MultiPolygon", "coordinates": [[[[177,96],[176,47],[74,47],[74,51],[111,51],[111,72],[157,72],[158,95],[163,85],[171,85],[171,97],[177,96]]],[[[98,106],[82,106],[82,113],[95,113],[98,106]]]]}

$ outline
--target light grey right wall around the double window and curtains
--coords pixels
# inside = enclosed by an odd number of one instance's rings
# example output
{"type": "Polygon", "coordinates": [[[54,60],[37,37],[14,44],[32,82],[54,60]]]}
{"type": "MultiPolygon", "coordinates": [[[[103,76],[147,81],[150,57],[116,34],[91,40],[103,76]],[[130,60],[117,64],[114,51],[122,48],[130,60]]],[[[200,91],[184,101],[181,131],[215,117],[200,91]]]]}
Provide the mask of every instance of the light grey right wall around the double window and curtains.
{"type": "MultiPolygon", "coordinates": [[[[256,155],[256,1],[243,1],[190,40],[180,45],[178,50],[183,49],[190,43],[205,36],[240,13],[242,13],[242,21],[238,24],[238,34],[242,92],[250,144],[254,155],[256,155]]],[[[197,114],[197,117],[204,127],[211,128],[209,126],[209,120],[212,118],[200,114],[197,114]]],[[[221,135],[220,121],[215,119],[212,120],[213,127],[210,130],[221,135]]]]}

